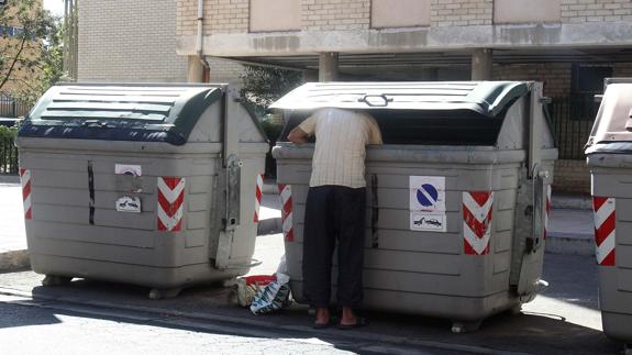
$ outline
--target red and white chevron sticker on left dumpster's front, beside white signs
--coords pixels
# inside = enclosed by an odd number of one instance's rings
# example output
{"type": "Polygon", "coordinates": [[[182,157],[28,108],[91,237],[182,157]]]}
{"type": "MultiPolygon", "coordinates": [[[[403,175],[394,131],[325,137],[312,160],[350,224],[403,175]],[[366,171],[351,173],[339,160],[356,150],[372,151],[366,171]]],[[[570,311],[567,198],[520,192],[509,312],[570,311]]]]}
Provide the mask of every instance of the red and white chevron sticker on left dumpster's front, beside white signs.
{"type": "Polygon", "coordinates": [[[158,231],[179,232],[185,209],[185,178],[158,177],[158,231]]]}

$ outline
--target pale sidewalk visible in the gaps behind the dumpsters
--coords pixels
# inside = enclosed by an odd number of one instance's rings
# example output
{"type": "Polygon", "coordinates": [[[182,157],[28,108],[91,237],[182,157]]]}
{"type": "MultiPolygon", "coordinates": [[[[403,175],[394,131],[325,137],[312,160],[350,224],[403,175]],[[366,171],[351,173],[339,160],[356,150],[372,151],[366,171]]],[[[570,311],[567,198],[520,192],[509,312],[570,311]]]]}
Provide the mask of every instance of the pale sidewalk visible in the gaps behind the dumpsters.
{"type": "MultiPolygon", "coordinates": [[[[594,255],[592,211],[588,197],[553,197],[546,251],[556,254],[594,255]]],[[[18,177],[0,176],[0,271],[29,266],[18,177]]],[[[259,210],[258,235],[281,232],[280,199],[276,185],[266,181],[259,210]]]]}

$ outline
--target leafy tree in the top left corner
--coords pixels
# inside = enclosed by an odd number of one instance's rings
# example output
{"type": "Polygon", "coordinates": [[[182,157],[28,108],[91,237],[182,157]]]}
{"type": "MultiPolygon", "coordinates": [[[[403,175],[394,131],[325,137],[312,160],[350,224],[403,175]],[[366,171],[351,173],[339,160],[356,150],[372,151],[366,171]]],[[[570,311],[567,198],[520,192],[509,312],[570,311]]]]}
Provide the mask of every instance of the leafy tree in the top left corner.
{"type": "Polygon", "coordinates": [[[36,0],[0,7],[0,91],[33,103],[63,75],[62,26],[36,0]]]}

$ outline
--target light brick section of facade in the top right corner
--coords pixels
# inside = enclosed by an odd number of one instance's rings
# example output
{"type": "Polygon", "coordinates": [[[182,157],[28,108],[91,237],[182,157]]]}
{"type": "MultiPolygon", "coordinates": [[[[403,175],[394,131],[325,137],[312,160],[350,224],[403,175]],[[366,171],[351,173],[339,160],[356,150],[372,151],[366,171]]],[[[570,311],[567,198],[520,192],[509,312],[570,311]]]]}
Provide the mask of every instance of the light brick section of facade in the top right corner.
{"type": "Polygon", "coordinates": [[[630,0],[562,0],[562,22],[632,21],[630,0]]]}

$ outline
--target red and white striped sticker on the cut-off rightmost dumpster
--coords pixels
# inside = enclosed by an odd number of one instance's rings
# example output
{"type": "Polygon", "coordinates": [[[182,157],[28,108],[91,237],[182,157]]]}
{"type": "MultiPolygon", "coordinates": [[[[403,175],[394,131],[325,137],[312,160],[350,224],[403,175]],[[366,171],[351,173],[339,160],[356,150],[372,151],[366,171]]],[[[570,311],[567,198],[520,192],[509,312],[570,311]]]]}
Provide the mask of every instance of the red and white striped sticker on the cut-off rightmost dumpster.
{"type": "Polygon", "coordinates": [[[616,224],[617,209],[614,198],[592,197],[592,211],[595,212],[595,255],[600,266],[616,265],[616,224]]]}

